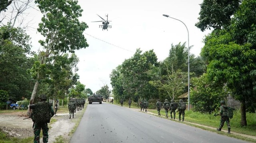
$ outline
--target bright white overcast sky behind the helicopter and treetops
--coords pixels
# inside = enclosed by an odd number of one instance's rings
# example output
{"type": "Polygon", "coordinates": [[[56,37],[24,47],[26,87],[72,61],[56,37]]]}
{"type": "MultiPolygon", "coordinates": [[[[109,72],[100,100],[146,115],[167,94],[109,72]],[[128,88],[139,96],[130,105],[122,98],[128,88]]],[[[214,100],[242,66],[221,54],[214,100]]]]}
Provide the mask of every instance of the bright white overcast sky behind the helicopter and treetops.
{"type": "MultiPolygon", "coordinates": [[[[171,45],[188,44],[190,54],[199,56],[204,36],[209,31],[200,31],[198,22],[200,5],[203,0],[78,0],[84,10],[80,21],[86,22],[84,31],[89,47],[76,51],[79,58],[78,74],[80,82],[92,92],[108,85],[110,74],[125,59],[132,57],[136,49],[142,52],[154,50],[158,61],[168,57],[171,45]],[[102,30],[100,15],[108,20],[112,28],[102,30]],[[167,14],[182,22],[162,16],[167,14]]],[[[27,12],[28,34],[32,37],[32,50],[40,49],[39,39],[43,37],[36,31],[42,17],[35,4],[30,4],[27,12]],[[33,8],[32,8],[33,7],[33,8]]],[[[188,45],[186,45],[188,46],[188,45]]]]}

